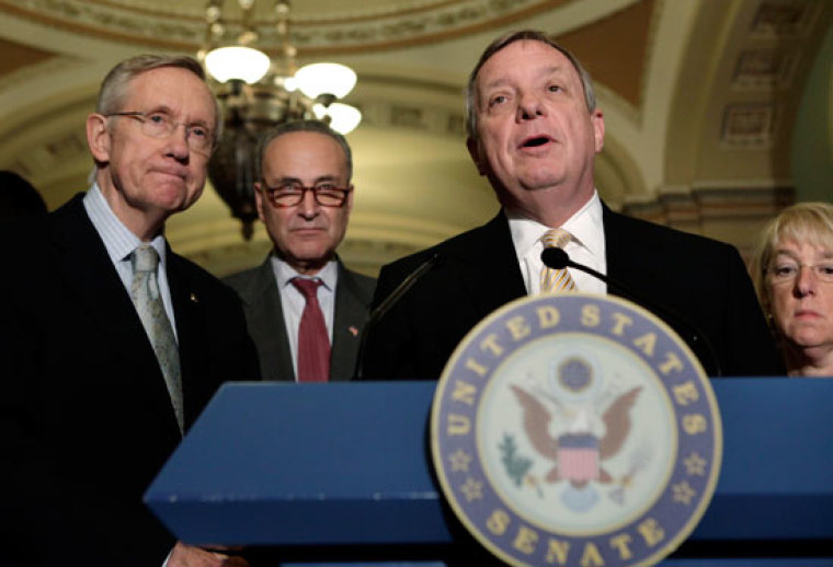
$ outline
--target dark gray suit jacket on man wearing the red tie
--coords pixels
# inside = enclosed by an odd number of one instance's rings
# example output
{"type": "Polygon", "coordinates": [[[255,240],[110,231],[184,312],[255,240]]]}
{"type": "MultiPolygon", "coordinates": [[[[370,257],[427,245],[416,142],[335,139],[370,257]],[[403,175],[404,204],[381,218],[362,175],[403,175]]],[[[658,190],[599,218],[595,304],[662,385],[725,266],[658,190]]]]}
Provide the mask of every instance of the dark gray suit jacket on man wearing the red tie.
{"type": "MultiPolygon", "coordinates": [[[[374,278],[356,274],[339,262],[335,285],[330,380],[353,378],[361,332],[367,321],[374,278]]],[[[258,347],[263,380],[295,380],[284,311],[270,257],[258,266],[225,278],[243,301],[249,334],[258,347]]]]}

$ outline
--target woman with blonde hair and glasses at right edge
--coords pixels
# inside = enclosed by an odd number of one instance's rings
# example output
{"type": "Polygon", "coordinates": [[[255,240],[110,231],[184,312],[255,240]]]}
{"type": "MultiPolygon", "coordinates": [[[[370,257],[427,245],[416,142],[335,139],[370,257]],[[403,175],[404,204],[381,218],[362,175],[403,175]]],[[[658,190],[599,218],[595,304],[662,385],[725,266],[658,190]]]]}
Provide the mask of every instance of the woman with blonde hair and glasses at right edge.
{"type": "Polygon", "coordinates": [[[784,209],[762,232],[750,270],[787,373],[833,377],[833,205],[784,209]]]}

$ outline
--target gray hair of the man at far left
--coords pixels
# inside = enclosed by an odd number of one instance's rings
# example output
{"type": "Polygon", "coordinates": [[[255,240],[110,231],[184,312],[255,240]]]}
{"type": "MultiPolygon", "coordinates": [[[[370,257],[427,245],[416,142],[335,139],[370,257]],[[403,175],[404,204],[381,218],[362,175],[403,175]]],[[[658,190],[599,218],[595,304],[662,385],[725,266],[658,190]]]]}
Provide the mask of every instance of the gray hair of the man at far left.
{"type": "MultiPolygon", "coordinates": [[[[137,55],[119,62],[110,70],[106,77],[104,77],[104,80],[101,82],[101,88],[99,89],[95,112],[109,115],[124,111],[122,104],[127,97],[130,81],[141,73],[152,71],[153,69],[160,69],[162,67],[174,67],[191,71],[197,76],[199,80],[206,83],[206,89],[208,89],[203,66],[192,57],[185,55],[137,55]]],[[[210,89],[208,89],[208,92],[212,93],[210,89]]],[[[222,115],[220,113],[219,103],[213,93],[212,101],[214,102],[214,142],[216,144],[222,132],[222,115]]]]}

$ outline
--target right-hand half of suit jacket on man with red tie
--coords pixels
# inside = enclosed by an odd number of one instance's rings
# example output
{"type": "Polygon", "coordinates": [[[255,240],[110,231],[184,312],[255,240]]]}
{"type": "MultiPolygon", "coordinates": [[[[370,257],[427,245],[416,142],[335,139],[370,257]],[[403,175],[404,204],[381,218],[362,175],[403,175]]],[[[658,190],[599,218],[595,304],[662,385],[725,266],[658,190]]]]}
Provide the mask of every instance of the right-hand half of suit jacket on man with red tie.
{"type": "Polygon", "coordinates": [[[332,329],[332,355],[330,380],[353,378],[361,333],[367,323],[373,293],[362,294],[358,282],[339,262],[339,279],[335,286],[335,312],[332,329]]]}

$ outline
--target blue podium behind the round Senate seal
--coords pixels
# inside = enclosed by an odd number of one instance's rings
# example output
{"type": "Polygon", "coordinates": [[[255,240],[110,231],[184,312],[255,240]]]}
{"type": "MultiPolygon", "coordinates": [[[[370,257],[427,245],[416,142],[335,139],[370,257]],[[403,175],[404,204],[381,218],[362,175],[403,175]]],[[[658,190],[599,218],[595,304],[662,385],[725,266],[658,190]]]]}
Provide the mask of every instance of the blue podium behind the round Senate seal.
{"type": "MultiPolygon", "coordinates": [[[[723,465],[689,542],[735,542],[743,557],[683,549],[661,565],[833,565],[833,380],[712,385],[723,465]]],[[[310,560],[328,548],[344,559],[353,548],[391,560],[440,558],[455,532],[432,475],[434,387],[226,384],[146,502],[193,544],[287,548],[310,560]]]]}

